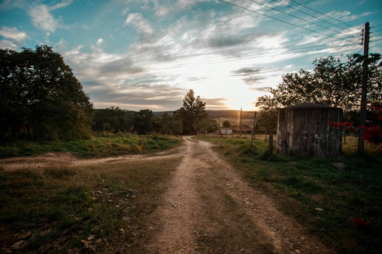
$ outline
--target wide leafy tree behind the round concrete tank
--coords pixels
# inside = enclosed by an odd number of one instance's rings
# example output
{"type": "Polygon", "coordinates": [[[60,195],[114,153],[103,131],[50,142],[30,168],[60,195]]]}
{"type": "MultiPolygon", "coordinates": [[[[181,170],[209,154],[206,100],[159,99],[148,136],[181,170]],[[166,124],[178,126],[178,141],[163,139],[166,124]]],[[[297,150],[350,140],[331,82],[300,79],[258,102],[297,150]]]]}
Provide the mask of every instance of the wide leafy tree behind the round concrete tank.
{"type": "MultiPolygon", "coordinates": [[[[272,114],[272,118],[279,108],[304,102],[339,107],[346,112],[359,111],[362,66],[352,61],[352,57],[344,63],[332,56],[316,59],[312,72],[285,74],[276,89],[268,90],[272,96],[261,96],[256,106],[260,106],[261,112],[272,114]]],[[[382,68],[376,62],[369,65],[367,90],[368,102],[382,102],[382,68]]]]}

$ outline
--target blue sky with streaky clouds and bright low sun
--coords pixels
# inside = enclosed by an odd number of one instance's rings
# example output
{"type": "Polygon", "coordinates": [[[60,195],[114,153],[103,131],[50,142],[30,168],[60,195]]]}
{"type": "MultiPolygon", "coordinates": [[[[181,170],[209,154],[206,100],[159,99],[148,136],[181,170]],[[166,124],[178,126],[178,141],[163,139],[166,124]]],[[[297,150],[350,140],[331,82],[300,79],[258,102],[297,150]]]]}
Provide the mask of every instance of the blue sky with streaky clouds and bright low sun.
{"type": "Polygon", "coordinates": [[[0,48],[51,46],[95,108],[153,111],[190,89],[206,109],[255,110],[282,75],[358,53],[365,22],[382,53],[381,0],[225,1],[1,0],[0,48]]]}

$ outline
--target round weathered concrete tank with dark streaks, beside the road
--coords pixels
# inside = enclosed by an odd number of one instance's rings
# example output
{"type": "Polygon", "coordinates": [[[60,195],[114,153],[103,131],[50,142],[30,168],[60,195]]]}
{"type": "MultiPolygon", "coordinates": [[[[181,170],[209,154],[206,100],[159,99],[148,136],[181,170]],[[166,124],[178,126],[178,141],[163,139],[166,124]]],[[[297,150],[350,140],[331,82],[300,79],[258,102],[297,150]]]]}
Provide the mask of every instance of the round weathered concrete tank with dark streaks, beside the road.
{"type": "Polygon", "coordinates": [[[337,157],[342,129],[326,122],[342,122],[343,110],[315,103],[279,109],[276,152],[294,156],[337,157]]]}

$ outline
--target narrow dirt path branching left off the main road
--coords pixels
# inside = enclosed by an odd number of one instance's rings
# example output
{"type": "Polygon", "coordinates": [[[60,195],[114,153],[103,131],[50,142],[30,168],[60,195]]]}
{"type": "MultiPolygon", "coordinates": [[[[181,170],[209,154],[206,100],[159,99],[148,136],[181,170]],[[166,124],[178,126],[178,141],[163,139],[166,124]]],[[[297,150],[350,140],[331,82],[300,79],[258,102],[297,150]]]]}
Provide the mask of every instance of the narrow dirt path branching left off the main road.
{"type": "Polygon", "coordinates": [[[98,163],[116,163],[130,160],[156,160],[158,159],[158,157],[160,157],[161,159],[178,158],[181,157],[181,154],[179,153],[177,148],[148,155],[135,154],[92,159],[79,159],[76,158],[72,153],[45,153],[28,157],[12,157],[0,159],[0,168],[2,167],[7,170],[12,170],[23,166],[43,167],[49,164],[60,163],[64,163],[71,166],[80,166],[98,163]]]}

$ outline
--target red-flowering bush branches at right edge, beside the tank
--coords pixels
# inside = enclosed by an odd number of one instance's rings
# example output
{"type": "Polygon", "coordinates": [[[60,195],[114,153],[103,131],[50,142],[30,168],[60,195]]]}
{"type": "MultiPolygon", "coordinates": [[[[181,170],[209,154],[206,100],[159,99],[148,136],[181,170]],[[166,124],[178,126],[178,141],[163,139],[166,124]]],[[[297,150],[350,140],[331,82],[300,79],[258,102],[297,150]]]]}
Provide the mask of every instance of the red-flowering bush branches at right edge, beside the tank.
{"type": "MultiPolygon", "coordinates": [[[[368,108],[372,109],[373,112],[378,116],[378,121],[382,120],[382,109],[378,106],[368,106],[368,108]]],[[[363,140],[367,143],[381,146],[382,149],[382,129],[380,126],[370,126],[364,127],[361,125],[360,127],[354,127],[353,123],[343,122],[337,123],[333,121],[326,123],[328,126],[333,126],[333,128],[342,128],[343,130],[348,130],[354,132],[356,134],[363,132],[363,140]]]]}

